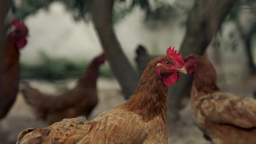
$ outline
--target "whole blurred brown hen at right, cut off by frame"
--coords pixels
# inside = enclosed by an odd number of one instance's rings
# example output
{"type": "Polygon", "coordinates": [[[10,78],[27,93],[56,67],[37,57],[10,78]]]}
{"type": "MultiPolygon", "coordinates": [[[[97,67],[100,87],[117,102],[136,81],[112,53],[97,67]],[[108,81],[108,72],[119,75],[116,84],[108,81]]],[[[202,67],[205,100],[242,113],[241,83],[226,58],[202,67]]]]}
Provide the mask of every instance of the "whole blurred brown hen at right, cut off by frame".
{"type": "Polygon", "coordinates": [[[256,144],[256,100],[220,91],[216,71],[205,56],[183,59],[194,75],[191,105],[204,137],[213,144],[256,144]]]}

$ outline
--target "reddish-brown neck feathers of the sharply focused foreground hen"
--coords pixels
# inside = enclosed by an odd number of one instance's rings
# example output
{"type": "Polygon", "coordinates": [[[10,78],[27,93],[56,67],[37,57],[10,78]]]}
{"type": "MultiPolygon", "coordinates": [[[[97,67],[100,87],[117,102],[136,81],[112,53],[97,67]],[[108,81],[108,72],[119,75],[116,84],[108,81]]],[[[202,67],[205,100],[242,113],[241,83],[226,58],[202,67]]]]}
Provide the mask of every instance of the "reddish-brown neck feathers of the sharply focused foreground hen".
{"type": "Polygon", "coordinates": [[[153,59],[143,71],[137,90],[126,105],[149,121],[155,116],[161,116],[164,121],[167,117],[167,86],[163,79],[156,74],[156,64],[161,57],[153,59]]]}

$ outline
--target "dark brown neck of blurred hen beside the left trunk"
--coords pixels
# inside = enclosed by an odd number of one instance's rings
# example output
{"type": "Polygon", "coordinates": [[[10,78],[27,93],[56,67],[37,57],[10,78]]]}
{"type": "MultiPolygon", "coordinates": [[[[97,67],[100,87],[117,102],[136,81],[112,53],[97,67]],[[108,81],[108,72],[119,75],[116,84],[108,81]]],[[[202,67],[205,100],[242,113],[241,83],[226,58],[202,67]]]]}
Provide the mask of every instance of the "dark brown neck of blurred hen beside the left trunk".
{"type": "Polygon", "coordinates": [[[86,87],[96,87],[96,80],[99,73],[100,64],[97,62],[95,58],[83,76],[79,79],[78,86],[86,86],[86,87]]]}

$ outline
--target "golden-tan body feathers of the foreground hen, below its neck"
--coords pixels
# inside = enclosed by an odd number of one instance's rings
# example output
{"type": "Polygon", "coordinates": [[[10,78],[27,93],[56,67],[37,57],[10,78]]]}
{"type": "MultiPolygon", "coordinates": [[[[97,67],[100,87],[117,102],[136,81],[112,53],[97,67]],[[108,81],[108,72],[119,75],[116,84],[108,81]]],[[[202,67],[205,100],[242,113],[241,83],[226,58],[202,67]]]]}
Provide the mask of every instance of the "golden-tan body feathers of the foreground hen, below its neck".
{"type": "Polygon", "coordinates": [[[164,143],[161,117],[143,122],[138,114],[120,105],[92,121],[80,118],[64,119],[45,129],[26,129],[17,144],[142,144],[164,143]],[[153,135],[157,133],[158,135],[153,135]],[[147,137],[148,136],[148,137],[147,137]]]}

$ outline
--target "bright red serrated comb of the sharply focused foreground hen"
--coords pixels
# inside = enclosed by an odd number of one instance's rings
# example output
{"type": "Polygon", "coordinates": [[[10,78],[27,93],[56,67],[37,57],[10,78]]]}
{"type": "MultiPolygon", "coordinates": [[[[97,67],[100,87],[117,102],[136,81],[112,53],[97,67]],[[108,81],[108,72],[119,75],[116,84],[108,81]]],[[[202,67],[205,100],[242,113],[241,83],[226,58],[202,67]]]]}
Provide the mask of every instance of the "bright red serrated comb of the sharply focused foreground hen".
{"type": "Polygon", "coordinates": [[[180,52],[177,53],[177,50],[174,49],[175,46],[173,48],[168,48],[166,53],[168,56],[170,56],[170,58],[172,58],[177,65],[181,66],[181,67],[184,67],[184,62],[183,62],[183,59],[182,59],[182,55],[180,54],[180,52]]]}

